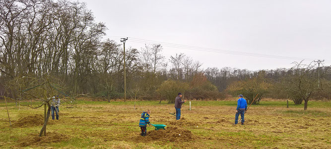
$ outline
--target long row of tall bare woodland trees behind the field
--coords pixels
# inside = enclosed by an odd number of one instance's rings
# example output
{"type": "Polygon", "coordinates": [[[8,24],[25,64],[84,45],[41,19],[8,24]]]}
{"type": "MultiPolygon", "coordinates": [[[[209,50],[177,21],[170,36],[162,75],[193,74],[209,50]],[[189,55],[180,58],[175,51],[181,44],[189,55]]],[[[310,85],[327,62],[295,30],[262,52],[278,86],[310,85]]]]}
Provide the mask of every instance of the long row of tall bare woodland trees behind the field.
{"type": "MultiPolygon", "coordinates": [[[[261,71],[202,69],[202,63],[183,53],[165,58],[160,44],[127,48],[124,58],[123,45],[105,39],[107,27],[94,20],[84,3],[1,0],[0,7],[0,83],[4,87],[23,76],[52,77],[65,94],[91,94],[109,101],[124,96],[126,59],[127,92],[132,99],[173,102],[168,94],[179,91],[185,92],[185,98],[218,99],[243,92],[245,85],[253,87],[247,96],[259,93],[260,100],[289,96],[297,96],[293,100],[308,96],[330,99],[330,67],[297,63],[290,69],[261,71]],[[303,82],[315,89],[303,93],[303,82]]],[[[11,96],[18,94],[17,89],[6,90],[11,96]]]]}

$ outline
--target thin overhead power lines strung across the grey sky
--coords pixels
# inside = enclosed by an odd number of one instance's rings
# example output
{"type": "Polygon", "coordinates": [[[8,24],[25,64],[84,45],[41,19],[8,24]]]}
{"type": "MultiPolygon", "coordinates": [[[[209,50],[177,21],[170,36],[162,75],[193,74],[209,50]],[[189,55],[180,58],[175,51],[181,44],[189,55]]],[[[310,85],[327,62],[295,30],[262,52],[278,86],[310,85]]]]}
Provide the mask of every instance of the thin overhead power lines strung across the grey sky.
{"type": "MultiPolygon", "coordinates": [[[[107,37],[114,39],[114,37],[120,37],[120,36],[107,36],[107,37]]],[[[230,51],[230,50],[220,50],[220,49],[213,49],[213,48],[203,48],[203,47],[197,47],[197,46],[173,44],[173,43],[168,43],[168,42],[159,42],[159,41],[145,40],[145,39],[140,39],[140,38],[132,38],[132,37],[130,37],[130,38],[131,38],[131,42],[134,42],[134,43],[161,44],[162,46],[165,46],[165,47],[181,48],[181,49],[188,49],[188,50],[195,50],[195,51],[214,52],[214,53],[223,53],[223,54],[236,54],[236,55],[242,55],[242,56],[276,58],[276,59],[286,59],[286,60],[302,60],[302,59],[315,60],[315,59],[311,59],[311,58],[288,57],[288,56],[258,54],[258,53],[249,53],[249,52],[238,52],[238,51],[230,51]]]]}

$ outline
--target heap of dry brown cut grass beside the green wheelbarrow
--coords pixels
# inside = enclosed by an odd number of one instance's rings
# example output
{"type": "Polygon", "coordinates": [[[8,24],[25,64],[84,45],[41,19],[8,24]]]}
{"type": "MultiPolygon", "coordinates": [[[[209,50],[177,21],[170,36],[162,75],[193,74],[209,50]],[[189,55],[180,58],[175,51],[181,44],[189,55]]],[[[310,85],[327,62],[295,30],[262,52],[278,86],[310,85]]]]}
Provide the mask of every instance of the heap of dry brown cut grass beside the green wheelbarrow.
{"type": "Polygon", "coordinates": [[[152,140],[170,141],[170,142],[183,142],[192,141],[194,136],[191,131],[176,126],[169,126],[166,129],[159,129],[158,131],[147,132],[147,136],[152,140]]]}

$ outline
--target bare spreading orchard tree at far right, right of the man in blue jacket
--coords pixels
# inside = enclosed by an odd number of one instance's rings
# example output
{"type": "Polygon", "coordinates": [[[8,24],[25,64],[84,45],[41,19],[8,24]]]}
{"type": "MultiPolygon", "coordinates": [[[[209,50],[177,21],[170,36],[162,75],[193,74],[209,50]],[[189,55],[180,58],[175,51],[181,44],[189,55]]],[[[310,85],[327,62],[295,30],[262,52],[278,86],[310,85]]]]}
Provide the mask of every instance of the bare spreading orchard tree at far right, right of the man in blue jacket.
{"type": "Polygon", "coordinates": [[[295,65],[291,68],[293,74],[283,76],[281,85],[288,93],[289,98],[305,101],[304,110],[307,110],[308,101],[312,94],[323,91],[324,83],[321,83],[319,86],[318,80],[321,77],[323,78],[326,71],[320,72],[319,77],[317,66],[314,62],[311,62],[309,65],[303,65],[302,62],[293,63],[295,65]]]}

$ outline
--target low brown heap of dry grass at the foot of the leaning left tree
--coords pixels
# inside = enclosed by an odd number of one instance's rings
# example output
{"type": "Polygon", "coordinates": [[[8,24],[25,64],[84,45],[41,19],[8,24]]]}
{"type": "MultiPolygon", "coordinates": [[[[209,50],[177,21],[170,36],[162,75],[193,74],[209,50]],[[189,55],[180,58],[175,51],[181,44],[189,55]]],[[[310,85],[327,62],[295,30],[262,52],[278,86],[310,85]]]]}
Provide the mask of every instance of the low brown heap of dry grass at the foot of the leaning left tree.
{"type": "Polygon", "coordinates": [[[38,134],[30,134],[28,136],[22,137],[18,140],[18,145],[21,147],[31,146],[31,145],[39,145],[43,143],[53,143],[60,141],[67,141],[69,137],[60,134],[58,132],[48,132],[46,136],[38,137],[38,134]]]}

